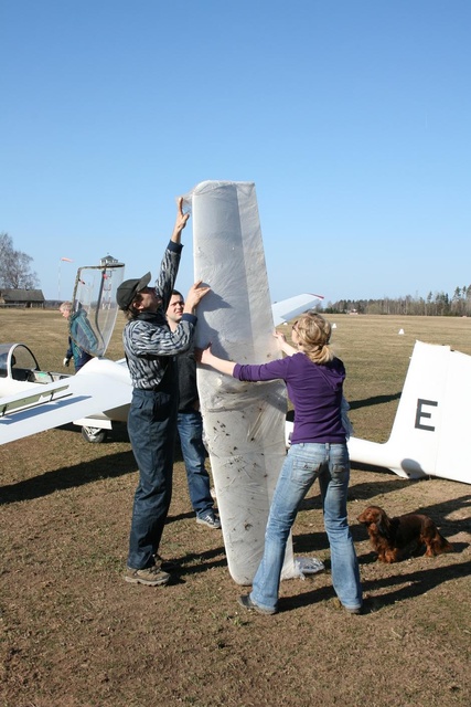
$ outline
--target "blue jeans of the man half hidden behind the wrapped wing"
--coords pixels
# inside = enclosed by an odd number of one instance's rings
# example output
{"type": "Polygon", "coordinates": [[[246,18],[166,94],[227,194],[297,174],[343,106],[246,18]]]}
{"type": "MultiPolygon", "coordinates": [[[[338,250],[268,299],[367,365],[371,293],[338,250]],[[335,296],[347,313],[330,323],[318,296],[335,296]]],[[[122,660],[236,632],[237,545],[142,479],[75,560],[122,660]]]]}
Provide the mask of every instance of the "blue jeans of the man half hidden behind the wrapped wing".
{"type": "Polygon", "coordinates": [[[203,420],[196,410],[179,412],[178,430],[191,505],[196,516],[214,507],[210,492],[210,474],[205,467],[206,451],[203,444],[203,420]]]}

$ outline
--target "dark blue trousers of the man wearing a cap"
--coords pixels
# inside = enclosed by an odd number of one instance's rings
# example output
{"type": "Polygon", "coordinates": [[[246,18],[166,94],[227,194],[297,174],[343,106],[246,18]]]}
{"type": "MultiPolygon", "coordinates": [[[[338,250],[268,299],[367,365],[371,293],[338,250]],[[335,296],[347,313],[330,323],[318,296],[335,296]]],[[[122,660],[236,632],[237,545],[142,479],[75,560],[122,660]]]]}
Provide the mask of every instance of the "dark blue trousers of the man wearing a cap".
{"type": "Polygon", "coordinates": [[[132,507],[128,567],[154,564],[172,499],[173,450],[176,434],[178,390],[132,392],[128,432],[139,467],[132,507]]]}

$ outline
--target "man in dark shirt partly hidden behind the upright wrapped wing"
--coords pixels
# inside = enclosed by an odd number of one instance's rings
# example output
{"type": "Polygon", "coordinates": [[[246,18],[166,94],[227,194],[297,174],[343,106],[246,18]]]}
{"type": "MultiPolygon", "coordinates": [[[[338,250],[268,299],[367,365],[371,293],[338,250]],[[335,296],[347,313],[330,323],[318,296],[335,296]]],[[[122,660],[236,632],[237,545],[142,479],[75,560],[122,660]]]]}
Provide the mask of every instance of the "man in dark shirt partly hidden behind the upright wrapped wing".
{"type": "MultiPolygon", "coordinates": [[[[171,331],[175,331],[183,316],[185,303],[182,294],[173,289],[167,309],[171,331]]],[[[176,357],[180,403],[176,428],[185,463],[190,500],[196,514],[196,523],[208,528],[221,528],[211,496],[210,474],[206,471],[206,451],[203,444],[203,420],[196,388],[196,361],[193,346],[176,357]]]]}

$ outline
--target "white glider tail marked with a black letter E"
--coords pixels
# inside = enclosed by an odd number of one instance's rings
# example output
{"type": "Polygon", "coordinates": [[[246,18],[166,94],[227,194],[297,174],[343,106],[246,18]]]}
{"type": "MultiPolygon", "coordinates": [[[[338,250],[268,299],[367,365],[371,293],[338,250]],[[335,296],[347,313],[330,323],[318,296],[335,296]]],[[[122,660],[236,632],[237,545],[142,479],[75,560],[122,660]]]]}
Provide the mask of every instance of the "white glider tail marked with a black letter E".
{"type": "Polygon", "coordinates": [[[351,437],[353,462],[404,478],[439,476],[471,484],[471,356],[416,341],[389,440],[351,437]]]}

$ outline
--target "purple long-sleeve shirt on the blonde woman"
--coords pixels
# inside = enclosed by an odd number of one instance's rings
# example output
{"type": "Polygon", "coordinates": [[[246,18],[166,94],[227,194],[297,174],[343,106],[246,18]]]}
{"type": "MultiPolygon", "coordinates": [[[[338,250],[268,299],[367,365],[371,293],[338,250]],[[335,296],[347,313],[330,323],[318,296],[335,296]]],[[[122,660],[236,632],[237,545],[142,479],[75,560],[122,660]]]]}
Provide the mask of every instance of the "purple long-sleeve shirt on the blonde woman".
{"type": "Polygon", "coordinates": [[[261,366],[236,363],[233,376],[246,381],[281,379],[286,382],[295,407],[291,444],[345,443],[341,415],[345,368],[339,358],[318,365],[304,354],[295,354],[261,366]]]}

